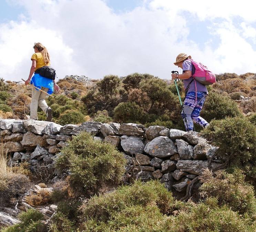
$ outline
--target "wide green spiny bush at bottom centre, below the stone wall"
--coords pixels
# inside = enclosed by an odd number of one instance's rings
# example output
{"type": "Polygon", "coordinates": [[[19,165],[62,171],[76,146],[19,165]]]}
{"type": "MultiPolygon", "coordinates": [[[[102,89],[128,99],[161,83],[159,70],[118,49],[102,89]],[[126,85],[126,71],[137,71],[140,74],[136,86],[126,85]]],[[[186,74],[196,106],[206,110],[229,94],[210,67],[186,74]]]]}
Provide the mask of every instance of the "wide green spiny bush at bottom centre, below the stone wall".
{"type": "Polygon", "coordinates": [[[171,211],[173,203],[172,193],[159,181],[137,181],[84,203],[80,208],[84,221],[80,229],[156,231],[166,218],[163,214],[171,211]]]}

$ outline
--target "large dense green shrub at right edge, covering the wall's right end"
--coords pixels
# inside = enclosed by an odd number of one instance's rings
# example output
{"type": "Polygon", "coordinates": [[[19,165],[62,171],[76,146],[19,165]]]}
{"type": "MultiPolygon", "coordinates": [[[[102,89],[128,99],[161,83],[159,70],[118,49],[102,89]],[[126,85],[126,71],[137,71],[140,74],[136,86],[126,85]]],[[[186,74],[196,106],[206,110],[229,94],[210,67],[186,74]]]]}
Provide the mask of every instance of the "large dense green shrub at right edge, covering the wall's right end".
{"type": "Polygon", "coordinates": [[[232,162],[244,163],[256,154],[256,128],[246,118],[213,120],[202,133],[219,147],[220,156],[229,156],[232,162]]]}

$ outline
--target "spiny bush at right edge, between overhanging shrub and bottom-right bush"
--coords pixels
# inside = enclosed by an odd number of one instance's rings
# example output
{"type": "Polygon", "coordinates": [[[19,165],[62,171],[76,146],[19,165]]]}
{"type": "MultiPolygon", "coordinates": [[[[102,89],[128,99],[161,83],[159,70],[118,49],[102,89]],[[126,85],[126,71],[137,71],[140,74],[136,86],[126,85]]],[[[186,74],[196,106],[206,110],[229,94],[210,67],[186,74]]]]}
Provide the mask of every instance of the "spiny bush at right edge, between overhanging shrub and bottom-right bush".
{"type": "Polygon", "coordinates": [[[256,199],[253,187],[245,183],[245,176],[240,169],[232,174],[224,170],[212,173],[205,170],[200,177],[203,185],[199,188],[202,197],[216,197],[220,205],[228,205],[233,211],[247,213],[254,216],[256,213],[256,199]]]}

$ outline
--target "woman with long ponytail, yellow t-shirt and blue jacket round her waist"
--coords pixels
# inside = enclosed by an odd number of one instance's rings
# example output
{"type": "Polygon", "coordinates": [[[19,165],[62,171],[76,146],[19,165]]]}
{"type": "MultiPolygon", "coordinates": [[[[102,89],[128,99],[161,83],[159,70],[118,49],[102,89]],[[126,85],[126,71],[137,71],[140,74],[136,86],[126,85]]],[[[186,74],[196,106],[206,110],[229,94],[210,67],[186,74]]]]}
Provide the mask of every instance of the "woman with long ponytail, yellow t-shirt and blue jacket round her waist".
{"type": "MultiPolygon", "coordinates": [[[[25,85],[29,83],[33,86],[38,87],[39,89],[47,92],[48,94],[53,93],[53,89],[56,91],[59,90],[59,86],[55,83],[55,80],[42,77],[39,73],[34,73],[36,70],[43,66],[50,65],[50,56],[47,51],[47,48],[44,47],[41,43],[34,43],[34,54],[31,57],[32,66],[30,68],[30,73],[28,79],[25,81],[25,85]],[[32,77],[34,73],[34,76],[32,77]]],[[[45,98],[47,96],[46,93],[37,90],[36,88],[32,88],[32,99],[30,104],[30,119],[37,120],[37,108],[38,105],[46,113],[46,121],[52,121],[52,109],[48,107],[45,98]]]]}

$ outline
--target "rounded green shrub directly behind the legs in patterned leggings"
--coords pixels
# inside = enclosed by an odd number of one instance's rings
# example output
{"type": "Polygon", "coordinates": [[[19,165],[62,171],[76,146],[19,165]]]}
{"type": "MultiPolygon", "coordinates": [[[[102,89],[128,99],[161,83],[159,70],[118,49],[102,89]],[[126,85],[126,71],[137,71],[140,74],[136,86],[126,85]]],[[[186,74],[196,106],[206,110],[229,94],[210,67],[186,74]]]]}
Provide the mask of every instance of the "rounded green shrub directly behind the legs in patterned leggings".
{"type": "Polygon", "coordinates": [[[207,122],[213,119],[224,119],[226,117],[242,116],[236,102],[229,97],[219,95],[213,91],[206,97],[201,117],[207,122]]]}

